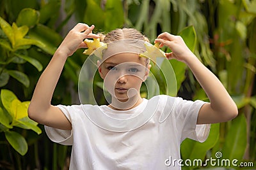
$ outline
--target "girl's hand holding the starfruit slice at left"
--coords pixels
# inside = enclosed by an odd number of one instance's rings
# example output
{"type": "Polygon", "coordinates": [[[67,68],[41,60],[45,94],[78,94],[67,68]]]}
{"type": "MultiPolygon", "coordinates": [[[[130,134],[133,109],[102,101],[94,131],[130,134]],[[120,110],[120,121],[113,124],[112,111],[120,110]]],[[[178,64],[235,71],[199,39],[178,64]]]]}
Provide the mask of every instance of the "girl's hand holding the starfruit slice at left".
{"type": "Polygon", "coordinates": [[[66,57],[72,55],[78,48],[85,48],[86,43],[83,42],[85,38],[99,38],[99,35],[93,34],[94,25],[89,27],[87,24],[79,23],[72,30],[70,30],[58,47],[56,52],[65,55],[66,57]]]}

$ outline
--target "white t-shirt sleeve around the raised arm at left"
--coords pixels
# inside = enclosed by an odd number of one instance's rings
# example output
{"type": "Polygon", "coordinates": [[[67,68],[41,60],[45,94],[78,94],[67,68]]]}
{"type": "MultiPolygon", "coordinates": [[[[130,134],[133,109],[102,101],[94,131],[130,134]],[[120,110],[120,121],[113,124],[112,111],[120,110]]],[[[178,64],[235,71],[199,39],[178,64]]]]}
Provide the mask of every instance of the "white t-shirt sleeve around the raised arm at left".
{"type": "MultiPolygon", "coordinates": [[[[60,108],[65,117],[67,117],[68,120],[72,122],[70,117],[70,110],[72,109],[72,106],[58,105],[57,107],[60,108]]],[[[61,145],[73,145],[72,130],[66,131],[49,127],[47,125],[45,125],[44,128],[48,138],[51,139],[51,141],[60,143],[61,145]]]]}

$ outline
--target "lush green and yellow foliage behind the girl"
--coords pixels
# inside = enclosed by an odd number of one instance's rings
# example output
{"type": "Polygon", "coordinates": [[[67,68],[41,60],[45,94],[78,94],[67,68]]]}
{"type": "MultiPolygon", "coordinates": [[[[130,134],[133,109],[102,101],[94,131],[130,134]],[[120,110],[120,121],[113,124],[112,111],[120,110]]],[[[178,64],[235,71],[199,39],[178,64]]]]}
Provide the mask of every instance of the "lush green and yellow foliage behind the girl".
{"type": "MultiPolygon", "coordinates": [[[[49,141],[44,127],[29,120],[26,110],[42,70],[77,22],[95,24],[96,32],[124,25],[135,27],[151,41],[164,31],[184,37],[232,95],[239,116],[212,125],[205,143],[186,139],[182,159],[205,160],[222,152],[222,159],[253,162],[254,167],[246,169],[255,169],[255,0],[2,0],[0,16],[0,169],[68,168],[70,146],[49,141]]],[[[77,80],[86,59],[82,52],[77,50],[68,58],[52,104],[79,103],[77,80]]],[[[177,77],[178,95],[207,101],[191,71],[181,62],[170,62],[177,77]]],[[[157,69],[152,73],[161,85],[161,93],[166,93],[161,74],[157,69]]],[[[99,81],[96,77],[95,92],[100,89],[99,81]]],[[[100,94],[96,96],[99,103],[105,103],[100,94]]]]}

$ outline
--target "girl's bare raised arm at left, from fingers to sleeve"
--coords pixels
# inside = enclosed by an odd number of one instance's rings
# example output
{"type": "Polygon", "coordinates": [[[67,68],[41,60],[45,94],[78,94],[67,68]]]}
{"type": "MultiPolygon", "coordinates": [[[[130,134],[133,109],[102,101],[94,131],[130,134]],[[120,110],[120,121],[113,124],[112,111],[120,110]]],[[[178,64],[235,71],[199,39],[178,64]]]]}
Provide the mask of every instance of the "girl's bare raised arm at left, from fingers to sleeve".
{"type": "Polygon", "coordinates": [[[78,48],[86,47],[84,38],[99,38],[92,34],[94,25],[77,24],[62,41],[48,66],[40,76],[28,108],[29,118],[39,124],[54,128],[70,130],[72,126],[62,111],[51,105],[52,94],[67,60],[78,48]]]}

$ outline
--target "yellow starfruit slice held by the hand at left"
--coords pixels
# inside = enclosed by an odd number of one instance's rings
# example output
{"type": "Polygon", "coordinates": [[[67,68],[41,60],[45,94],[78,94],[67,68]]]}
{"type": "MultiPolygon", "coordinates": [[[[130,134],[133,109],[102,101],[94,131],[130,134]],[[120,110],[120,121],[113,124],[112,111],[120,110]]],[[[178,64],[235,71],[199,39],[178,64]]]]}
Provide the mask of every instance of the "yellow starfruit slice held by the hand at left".
{"type": "Polygon", "coordinates": [[[86,45],[88,46],[88,48],[83,52],[83,54],[85,55],[91,55],[97,50],[97,53],[95,53],[95,55],[102,58],[102,50],[108,48],[107,44],[100,42],[99,38],[93,38],[93,40],[84,39],[84,43],[86,43],[86,45]]]}

